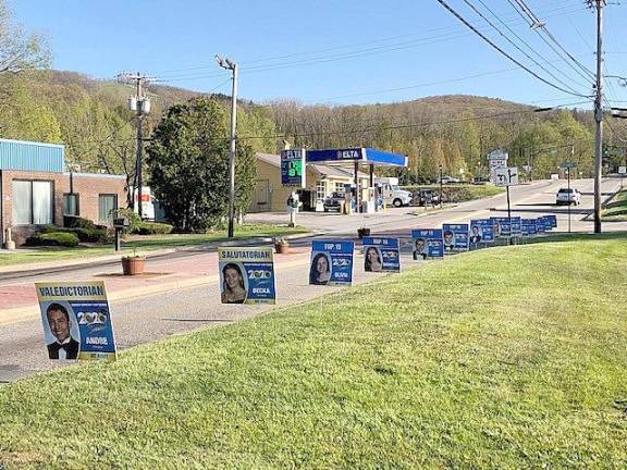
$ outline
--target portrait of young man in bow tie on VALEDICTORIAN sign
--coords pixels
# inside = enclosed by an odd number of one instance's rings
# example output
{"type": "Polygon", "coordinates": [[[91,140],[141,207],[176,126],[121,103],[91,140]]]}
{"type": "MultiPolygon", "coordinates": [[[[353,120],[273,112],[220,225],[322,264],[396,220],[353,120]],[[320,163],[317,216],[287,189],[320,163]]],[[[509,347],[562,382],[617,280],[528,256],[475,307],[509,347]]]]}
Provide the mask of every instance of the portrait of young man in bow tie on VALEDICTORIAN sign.
{"type": "Polygon", "coordinates": [[[78,358],[81,333],[76,316],[67,302],[51,302],[46,307],[44,335],[50,359],[74,360],[78,358]]]}

